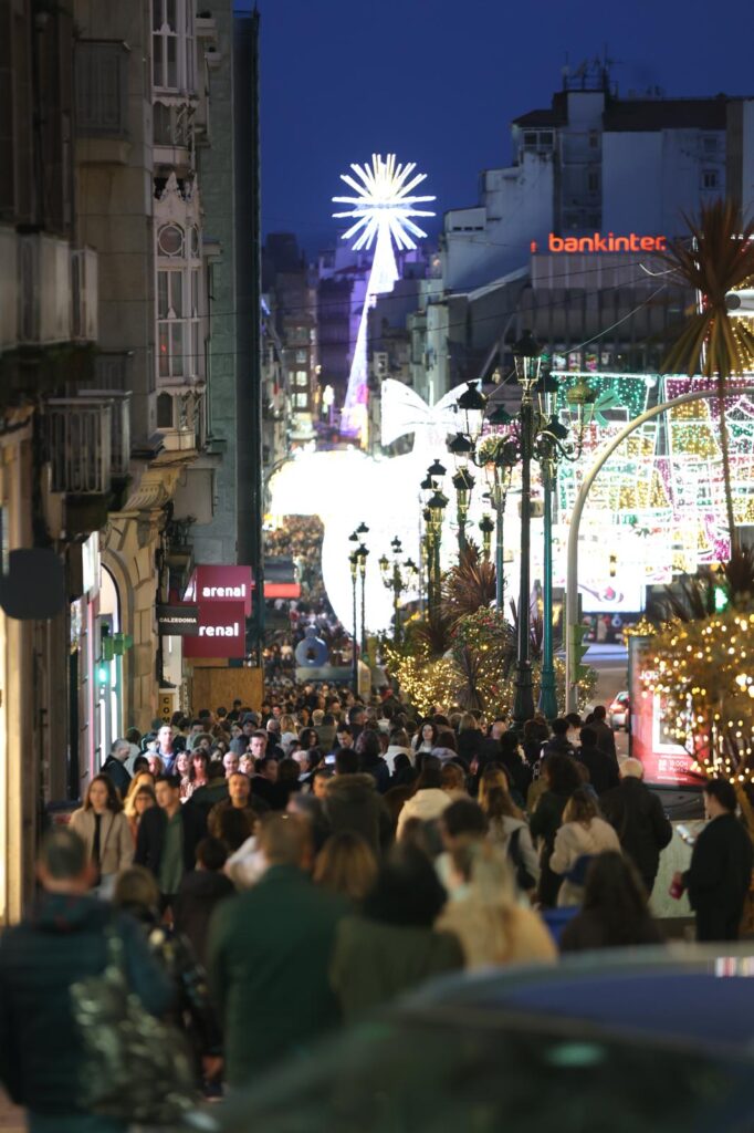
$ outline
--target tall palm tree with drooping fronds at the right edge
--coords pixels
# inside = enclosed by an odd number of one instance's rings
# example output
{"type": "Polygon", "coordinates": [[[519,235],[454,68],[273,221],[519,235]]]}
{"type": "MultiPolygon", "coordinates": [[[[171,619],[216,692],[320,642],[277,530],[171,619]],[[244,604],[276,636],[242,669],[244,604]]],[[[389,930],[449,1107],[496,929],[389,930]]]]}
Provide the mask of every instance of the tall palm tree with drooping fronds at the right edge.
{"type": "Polygon", "coordinates": [[[684,218],[691,240],[677,240],[661,255],[687,287],[702,296],[702,309],[689,315],[679,338],[662,363],[663,373],[704,374],[717,380],[720,407],[720,451],[725,479],[730,548],[738,540],[730,486],[730,452],[726,418],[726,389],[734,374],[752,368],[754,334],[745,320],[731,320],[726,295],[754,280],[754,221],[742,224],[734,201],[702,206],[699,219],[684,218]]]}

